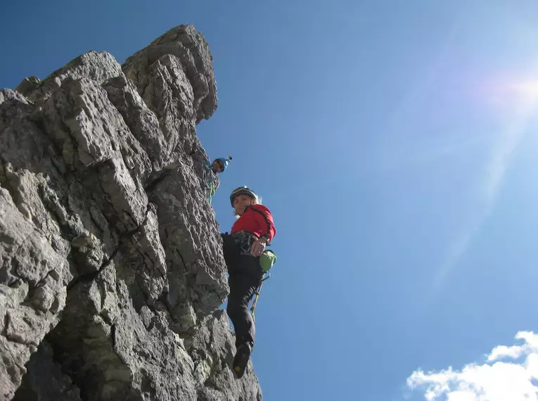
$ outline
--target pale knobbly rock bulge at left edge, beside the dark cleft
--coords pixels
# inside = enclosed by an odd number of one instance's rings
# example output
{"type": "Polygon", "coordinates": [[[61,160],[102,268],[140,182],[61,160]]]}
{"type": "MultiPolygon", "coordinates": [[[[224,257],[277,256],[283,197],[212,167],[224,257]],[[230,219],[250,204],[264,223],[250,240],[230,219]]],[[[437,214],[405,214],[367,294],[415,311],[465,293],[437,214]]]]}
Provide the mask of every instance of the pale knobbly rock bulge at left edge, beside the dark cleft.
{"type": "Polygon", "coordinates": [[[11,400],[25,363],[65,305],[65,259],[0,187],[0,399],[11,400]]]}

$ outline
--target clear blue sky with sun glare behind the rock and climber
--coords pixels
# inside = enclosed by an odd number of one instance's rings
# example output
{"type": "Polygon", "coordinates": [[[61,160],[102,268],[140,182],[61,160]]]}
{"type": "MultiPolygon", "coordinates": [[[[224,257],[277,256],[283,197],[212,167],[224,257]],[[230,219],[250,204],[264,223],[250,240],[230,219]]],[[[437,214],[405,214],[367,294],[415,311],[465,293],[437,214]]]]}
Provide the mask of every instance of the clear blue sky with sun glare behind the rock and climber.
{"type": "Polygon", "coordinates": [[[193,23],[219,108],[198,126],[274,214],[257,310],[266,401],[422,400],[538,331],[538,3],[10,1],[0,87],[193,23]]]}

